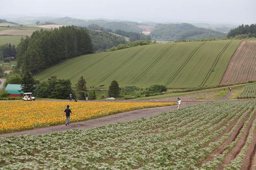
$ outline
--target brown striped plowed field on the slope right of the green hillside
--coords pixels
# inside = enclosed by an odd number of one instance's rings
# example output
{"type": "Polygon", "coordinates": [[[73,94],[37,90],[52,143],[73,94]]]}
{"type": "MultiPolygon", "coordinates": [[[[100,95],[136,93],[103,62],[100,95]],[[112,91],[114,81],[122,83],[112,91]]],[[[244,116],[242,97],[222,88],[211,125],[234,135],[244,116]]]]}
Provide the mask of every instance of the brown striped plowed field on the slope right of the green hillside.
{"type": "Polygon", "coordinates": [[[243,41],[236,49],[221,84],[256,80],[256,41],[243,41]]]}

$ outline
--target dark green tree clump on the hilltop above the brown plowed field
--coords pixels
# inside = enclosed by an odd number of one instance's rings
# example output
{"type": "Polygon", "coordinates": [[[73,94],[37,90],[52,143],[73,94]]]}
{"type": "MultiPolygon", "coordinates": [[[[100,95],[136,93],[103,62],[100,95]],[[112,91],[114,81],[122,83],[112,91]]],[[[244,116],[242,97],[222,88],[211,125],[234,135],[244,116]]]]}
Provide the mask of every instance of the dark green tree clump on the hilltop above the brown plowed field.
{"type": "Polygon", "coordinates": [[[231,29],[228,32],[226,38],[237,37],[238,35],[244,35],[242,37],[245,37],[245,38],[256,37],[256,24],[251,24],[250,26],[244,25],[244,24],[239,25],[238,27],[231,29]]]}

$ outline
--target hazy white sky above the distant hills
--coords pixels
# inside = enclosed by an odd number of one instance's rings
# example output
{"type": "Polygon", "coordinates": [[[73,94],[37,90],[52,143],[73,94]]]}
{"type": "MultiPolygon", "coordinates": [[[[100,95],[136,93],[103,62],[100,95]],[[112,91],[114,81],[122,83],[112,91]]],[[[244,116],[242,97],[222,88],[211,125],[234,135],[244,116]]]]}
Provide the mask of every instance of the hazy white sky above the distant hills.
{"type": "Polygon", "coordinates": [[[0,19],[40,14],[80,19],[256,24],[256,0],[0,0],[0,19]]]}

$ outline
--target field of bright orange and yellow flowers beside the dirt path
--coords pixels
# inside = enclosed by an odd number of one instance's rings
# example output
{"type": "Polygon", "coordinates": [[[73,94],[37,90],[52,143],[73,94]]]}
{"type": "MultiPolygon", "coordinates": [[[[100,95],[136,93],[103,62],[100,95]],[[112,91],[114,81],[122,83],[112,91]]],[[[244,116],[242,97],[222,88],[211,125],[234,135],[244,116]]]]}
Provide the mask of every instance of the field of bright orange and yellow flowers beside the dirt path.
{"type": "Polygon", "coordinates": [[[130,110],[170,106],[160,102],[63,102],[2,101],[0,102],[0,133],[64,124],[64,109],[70,105],[70,122],[84,121],[130,110]]]}

